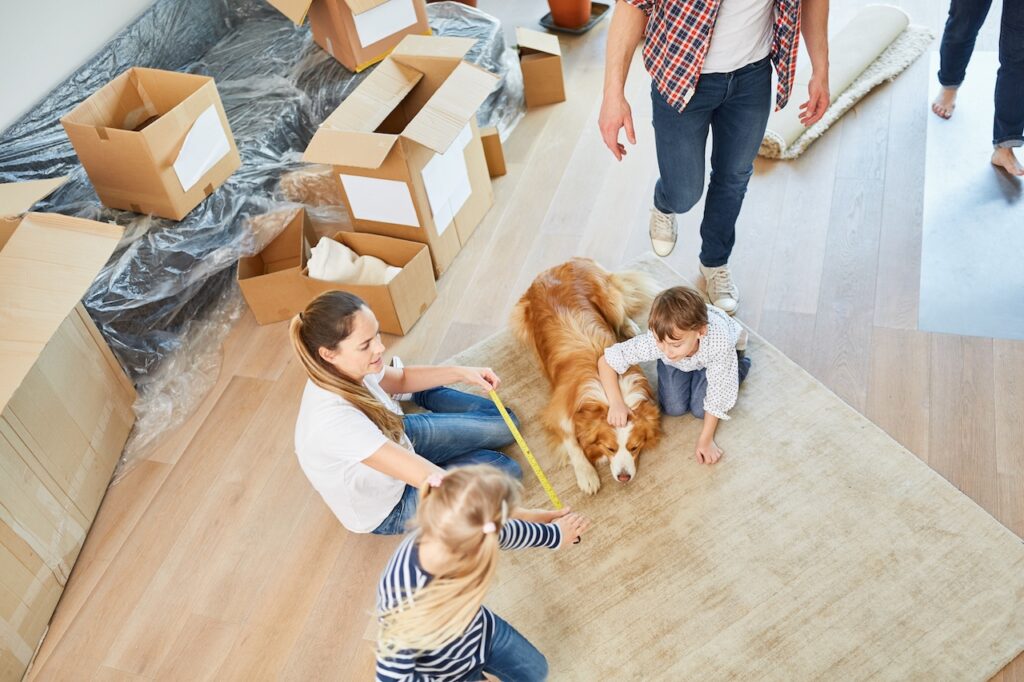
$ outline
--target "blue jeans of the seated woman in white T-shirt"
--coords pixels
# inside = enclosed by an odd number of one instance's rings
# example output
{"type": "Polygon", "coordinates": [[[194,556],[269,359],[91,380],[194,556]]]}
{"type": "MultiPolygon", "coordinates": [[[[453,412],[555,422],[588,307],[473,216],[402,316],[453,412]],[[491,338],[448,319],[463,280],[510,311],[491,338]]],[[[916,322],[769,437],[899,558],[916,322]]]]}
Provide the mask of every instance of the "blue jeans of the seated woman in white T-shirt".
{"type": "MultiPolygon", "coordinates": [[[[418,455],[445,469],[489,464],[522,478],[519,464],[496,452],[514,439],[494,402],[443,386],[413,393],[413,401],[430,411],[402,418],[406,435],[413,441],[413,450],[418,455]]],[[[515,413],[510,410],[509,416],[518,427],[515,413]]],[[[379,536],[406,532],[409,522],[416,516],[419,501],[419,491],[407,485],[401,500],[374,532],[379,536]]]]}

